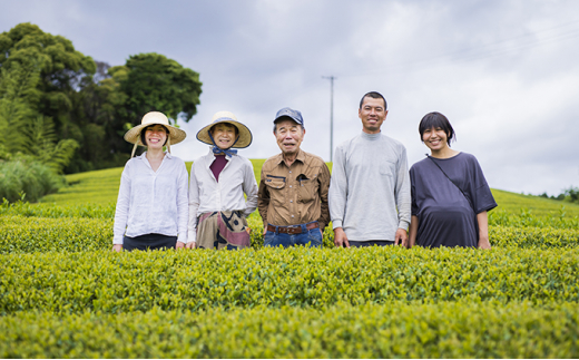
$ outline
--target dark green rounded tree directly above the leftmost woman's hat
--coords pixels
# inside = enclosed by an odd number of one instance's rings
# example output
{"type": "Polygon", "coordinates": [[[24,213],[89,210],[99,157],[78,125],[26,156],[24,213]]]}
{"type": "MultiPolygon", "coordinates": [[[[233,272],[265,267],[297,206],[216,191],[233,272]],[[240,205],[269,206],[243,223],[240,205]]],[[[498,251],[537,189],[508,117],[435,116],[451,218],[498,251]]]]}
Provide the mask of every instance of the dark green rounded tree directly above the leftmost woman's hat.
{"type": "Polygon", "coordinates": [[[188,121],[197,113],[202,82],[199,74],[159,53],[129,57],[125,66],[109,69],[120,84],[126,101],[120,114],[138,124],[148,111],[161,111],[177,121],[188,121]]]}

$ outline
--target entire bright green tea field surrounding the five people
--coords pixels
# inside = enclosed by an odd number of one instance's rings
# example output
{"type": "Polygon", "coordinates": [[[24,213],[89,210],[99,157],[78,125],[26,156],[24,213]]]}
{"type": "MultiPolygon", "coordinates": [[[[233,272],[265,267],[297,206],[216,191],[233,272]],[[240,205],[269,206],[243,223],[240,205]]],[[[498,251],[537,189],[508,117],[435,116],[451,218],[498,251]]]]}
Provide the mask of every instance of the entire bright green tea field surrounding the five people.
{"type": "Polygon", "coordinates": [[[249,250],[115,253],[121,172],[0,205],[1,358],[579,358],[578,205],[493,189],[490,251],[265,249],[256,212],[249,250]]]}

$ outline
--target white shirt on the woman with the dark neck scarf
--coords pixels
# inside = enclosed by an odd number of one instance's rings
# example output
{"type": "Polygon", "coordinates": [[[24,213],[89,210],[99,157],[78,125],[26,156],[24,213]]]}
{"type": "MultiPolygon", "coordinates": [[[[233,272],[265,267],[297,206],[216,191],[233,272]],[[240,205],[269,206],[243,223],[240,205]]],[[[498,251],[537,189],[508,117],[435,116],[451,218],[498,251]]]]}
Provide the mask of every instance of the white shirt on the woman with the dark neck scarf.
{"type": "Polygon", "coordinates": [[[257,182],[252,162],[239,155],[226,155],[225,158],[227,164],[219,174],[219,182],[209,168],[215,160],[212,150],[193,163],[189,184],[189,242],[194,242],[197,236],[197,216],[224,211],[241,211],[249,216],[257,207],[257,182]]]}

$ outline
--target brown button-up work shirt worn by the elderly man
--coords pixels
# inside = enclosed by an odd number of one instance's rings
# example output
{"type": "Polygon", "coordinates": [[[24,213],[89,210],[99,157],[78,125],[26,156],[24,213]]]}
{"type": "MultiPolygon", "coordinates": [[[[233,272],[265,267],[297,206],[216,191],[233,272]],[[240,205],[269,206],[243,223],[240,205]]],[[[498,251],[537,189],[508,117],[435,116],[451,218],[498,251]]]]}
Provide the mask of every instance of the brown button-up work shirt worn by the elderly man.
{"type": "Polygon", "coordinates": [[[330,223],[328,187],[330,169],[320,156],[300,149],[290,167],[282,154],[269,157],[262,167],[257,193],[264,226],[318,221],[323,231],[330,223]]]}

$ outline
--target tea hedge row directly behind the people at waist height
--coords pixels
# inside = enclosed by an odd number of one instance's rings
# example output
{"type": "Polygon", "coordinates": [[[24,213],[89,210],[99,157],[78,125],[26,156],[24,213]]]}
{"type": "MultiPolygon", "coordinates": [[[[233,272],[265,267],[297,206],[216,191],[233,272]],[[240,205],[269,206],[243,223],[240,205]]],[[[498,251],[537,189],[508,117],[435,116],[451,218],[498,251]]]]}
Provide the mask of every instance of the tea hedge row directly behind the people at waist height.
{"type": "MultiPolygon", "coordinates": [[[[263,224],[258,216],[248,220],[252,246],[263,247],[263,224]]],[[[78,252],[112,246],[111,218],[0,216],[0,254],[35,252],[78,252]]],[[[334,247],[330,227],[324,232],[324,247],[334,247]]],[[[576,247],[578,230],[508,227],[490,228],[491,244],[498,247],[576,247]]]]}

